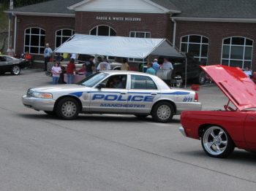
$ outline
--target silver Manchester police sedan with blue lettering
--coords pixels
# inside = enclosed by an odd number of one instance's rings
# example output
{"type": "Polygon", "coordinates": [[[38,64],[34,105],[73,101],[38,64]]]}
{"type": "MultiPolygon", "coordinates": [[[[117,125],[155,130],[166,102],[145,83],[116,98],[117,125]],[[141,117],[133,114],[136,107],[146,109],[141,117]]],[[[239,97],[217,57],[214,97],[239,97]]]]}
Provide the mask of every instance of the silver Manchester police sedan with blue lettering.
{"type": "Polygon", "coordinates": [[[34,87],[22,101],[63,120],[83,113],[151,115],[157,122],[169,122],[174,114],[202,107],[195,91],[168,87],[159,77],[137,71],[98,72],[75,85],[34,87]]]}

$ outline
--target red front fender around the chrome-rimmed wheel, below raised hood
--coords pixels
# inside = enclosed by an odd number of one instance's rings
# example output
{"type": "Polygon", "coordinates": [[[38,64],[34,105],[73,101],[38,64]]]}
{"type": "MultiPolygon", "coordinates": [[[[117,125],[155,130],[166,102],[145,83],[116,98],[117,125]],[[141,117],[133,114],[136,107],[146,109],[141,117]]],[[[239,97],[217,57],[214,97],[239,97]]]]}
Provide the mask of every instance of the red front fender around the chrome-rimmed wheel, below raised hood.
{"type": "Polygon", "coordinates": [[[248,149],[244,139],[244,121],[247,112],[225,111],[184,111],[181,125],[189,138],[200,139],[200,132],[208,125],[218,125],[227,130],[231,139],[240,149],[248,149]]]}

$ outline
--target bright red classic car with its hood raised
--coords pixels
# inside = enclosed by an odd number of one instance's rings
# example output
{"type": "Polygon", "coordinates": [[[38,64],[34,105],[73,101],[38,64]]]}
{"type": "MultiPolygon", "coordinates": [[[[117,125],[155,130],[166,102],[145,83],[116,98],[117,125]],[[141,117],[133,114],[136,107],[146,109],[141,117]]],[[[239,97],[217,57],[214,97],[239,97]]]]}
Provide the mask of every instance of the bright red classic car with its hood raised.
{"type": "Polygon", "coordinates": [[[227,157],[234,148],[256,152],[256,85],[239,68],[201,66],[227,95],[223,111],[185,111],[179,128],[184,136],[200,139],[211,157],[227,157]],[[232,102],[232,103],[231,103],[232,102]]]}

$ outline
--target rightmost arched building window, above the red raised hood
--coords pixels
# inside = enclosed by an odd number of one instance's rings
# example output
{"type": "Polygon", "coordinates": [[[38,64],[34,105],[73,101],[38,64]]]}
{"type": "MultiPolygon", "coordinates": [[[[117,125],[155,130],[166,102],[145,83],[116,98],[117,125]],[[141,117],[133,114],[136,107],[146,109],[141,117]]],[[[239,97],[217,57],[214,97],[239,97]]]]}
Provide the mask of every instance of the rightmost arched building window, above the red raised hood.
{"type": "Polygon", "coordinates": [[[222,43],[222,65],[239,67],[245,69],[252,66],[252,44],[251,39],[244,37],[230,37],[223,39],[222,43]]]}

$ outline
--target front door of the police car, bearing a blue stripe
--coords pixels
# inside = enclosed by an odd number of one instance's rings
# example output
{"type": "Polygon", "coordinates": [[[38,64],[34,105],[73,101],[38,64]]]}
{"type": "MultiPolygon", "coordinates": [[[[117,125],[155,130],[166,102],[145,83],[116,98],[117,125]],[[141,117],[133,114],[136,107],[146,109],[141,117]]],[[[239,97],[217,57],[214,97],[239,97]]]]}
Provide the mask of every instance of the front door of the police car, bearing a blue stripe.
{"type": "Polygon", "coordinates": [[[112,75],[102,83],[101,89],[91,89],[90,111],[104,113],[127,113],[127,74],[112,75]],[[112,87],[113,79],[118,76],[122,87],[112,87]]]}

